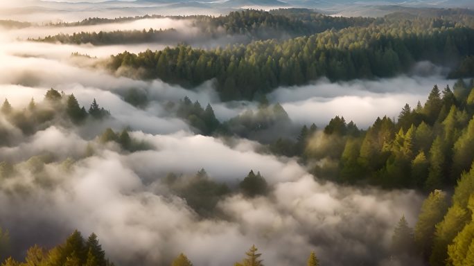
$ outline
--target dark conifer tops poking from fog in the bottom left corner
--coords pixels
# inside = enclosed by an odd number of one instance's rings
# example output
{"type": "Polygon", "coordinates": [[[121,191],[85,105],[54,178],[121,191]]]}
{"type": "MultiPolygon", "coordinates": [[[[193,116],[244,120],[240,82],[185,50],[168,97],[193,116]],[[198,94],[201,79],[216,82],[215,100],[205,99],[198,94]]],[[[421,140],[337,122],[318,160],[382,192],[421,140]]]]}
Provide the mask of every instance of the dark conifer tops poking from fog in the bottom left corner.
{"type": "MultiPolygon", "coordinates": [[[[1,250],[0,250],[1,251],[1,250]]],[[[6,258],[2,266],[113,266],[105,256],[95,233],[84,239],[74,231],[67,240],[47,251],[37,245],[26,252],[24,262],[6,258]]]]}

